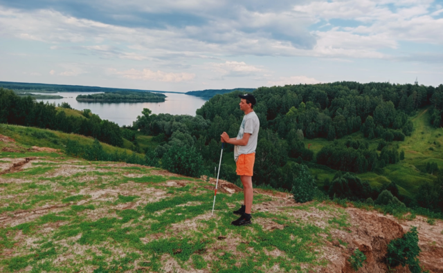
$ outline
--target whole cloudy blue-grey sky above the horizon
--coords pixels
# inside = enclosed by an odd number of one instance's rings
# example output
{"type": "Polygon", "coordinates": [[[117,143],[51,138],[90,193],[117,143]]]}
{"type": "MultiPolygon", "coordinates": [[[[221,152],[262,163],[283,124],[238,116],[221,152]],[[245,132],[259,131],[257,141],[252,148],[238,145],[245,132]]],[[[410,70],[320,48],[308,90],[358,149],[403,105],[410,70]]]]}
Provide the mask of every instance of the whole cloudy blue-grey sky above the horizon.
{"type": "Polygon", "coordinates": [[[0,0],[0,81],[443,84],[443,0],[0,0]]]}

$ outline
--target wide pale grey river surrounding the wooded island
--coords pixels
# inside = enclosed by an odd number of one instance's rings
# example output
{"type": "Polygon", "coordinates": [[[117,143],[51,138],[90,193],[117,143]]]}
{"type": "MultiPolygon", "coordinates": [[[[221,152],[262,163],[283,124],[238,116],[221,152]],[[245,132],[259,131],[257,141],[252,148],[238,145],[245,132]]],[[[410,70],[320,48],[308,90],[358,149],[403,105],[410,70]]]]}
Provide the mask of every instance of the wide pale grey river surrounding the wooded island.
{"type": "MultiPolygon", "coordinates": [[[[35,92],[33,92],[35,93],[35,92]]],[[[94,92],[96,93],[96,92],[94,92]]],[[[171,115],[195,115],[195,111],[199,109],[207,101],[201,97],[178,93],[164,93],[166,95],[165,102],[119,102],[119,103],[102,103],[102,102],[78,102],[75,100],[77,95],[94,94],[92,92],[58,92],[58,93],[35,93],[42,95],[60,95],[63,98],[57,100],[37,100],[37,102],[49,102],[61,104],[67,102],[73,109],[83,110],[90,109],[92,113],[100,116],[102,120],[110,120],[116,124],[132,125],[138,115],[141,115],[143,108],[148,108],[154,114],[170,113],[171,115]]]]}

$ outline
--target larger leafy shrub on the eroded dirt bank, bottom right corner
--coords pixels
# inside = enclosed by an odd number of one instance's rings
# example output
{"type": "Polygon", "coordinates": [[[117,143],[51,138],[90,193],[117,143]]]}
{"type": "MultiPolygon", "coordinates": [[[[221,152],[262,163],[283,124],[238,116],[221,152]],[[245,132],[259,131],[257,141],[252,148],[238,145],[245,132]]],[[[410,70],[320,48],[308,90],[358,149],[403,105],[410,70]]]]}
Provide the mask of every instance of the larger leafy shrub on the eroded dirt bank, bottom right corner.
{"type": "Polygon", "coordinates": [[[419,273],[422,272],[418,260],[420,251],[417,227],[412,227],[403,237],[390,241],[386,261],[390,267],[408,265],[411,273],[419,273]]]}

